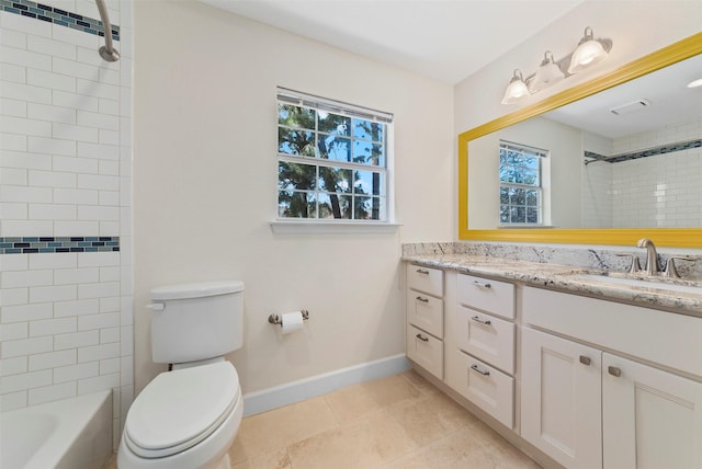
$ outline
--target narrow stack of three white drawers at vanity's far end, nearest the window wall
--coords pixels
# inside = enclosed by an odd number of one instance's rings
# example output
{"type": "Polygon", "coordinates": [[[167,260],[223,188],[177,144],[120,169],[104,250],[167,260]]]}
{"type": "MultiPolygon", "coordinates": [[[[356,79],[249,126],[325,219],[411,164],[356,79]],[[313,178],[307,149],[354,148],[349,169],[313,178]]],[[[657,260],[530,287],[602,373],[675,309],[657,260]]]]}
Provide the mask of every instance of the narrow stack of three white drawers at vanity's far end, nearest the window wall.
{"type": "Polygon", "coordinates": [[[443,276],[440,268],[406,265],[407,356],[443,379],[443,276]]]}

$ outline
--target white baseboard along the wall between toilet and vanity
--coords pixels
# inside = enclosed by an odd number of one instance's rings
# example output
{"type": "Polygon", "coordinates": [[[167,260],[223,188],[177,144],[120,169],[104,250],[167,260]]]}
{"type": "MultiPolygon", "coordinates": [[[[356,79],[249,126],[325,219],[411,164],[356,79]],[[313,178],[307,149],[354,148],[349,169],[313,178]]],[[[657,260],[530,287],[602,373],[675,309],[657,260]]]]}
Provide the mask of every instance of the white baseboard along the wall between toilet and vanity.
{"type": "Polygon", "coordinates": [[[405,354],[393,355],[261,391],[249,392],[244,394],[244,416],[304,401],[350,385],[397,375],[410,367],[405,354]]]}

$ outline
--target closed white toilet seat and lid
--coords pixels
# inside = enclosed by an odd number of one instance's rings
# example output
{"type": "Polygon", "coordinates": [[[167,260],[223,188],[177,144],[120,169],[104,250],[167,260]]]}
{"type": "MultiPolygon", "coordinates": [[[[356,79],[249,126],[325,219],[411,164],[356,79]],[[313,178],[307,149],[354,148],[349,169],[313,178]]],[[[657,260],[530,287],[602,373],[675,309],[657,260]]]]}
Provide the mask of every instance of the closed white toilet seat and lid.
{"type": "Polygon", "coordinates": [[[143,458],[184,451],[222,425],[239,393],[239,377],[226,361],[161,373],[132,404],[125,443],[143,458]]]}

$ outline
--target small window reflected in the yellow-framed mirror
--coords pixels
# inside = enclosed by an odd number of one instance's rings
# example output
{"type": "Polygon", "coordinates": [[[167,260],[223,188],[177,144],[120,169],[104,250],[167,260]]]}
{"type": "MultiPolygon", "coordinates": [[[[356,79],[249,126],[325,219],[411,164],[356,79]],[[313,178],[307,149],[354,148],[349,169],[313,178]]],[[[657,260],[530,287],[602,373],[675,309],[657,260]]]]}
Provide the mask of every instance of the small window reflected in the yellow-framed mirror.
{"type": "Polygon", "coordinates": [[[500,140],[500,225],[543,225],[542,161],[548,151],[500,140]]]}

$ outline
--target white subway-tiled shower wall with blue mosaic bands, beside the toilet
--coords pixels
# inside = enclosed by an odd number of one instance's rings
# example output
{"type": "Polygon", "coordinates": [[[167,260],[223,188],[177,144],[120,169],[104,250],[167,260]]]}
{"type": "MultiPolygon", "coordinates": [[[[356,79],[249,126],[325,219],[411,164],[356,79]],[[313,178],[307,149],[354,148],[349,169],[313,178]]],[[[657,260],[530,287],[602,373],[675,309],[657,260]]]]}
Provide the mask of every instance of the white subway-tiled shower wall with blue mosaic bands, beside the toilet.
{"type": "Polygon", "coordinates": [[[0,0],[0,405],[133,400],[132,3],[0,0]]]}

